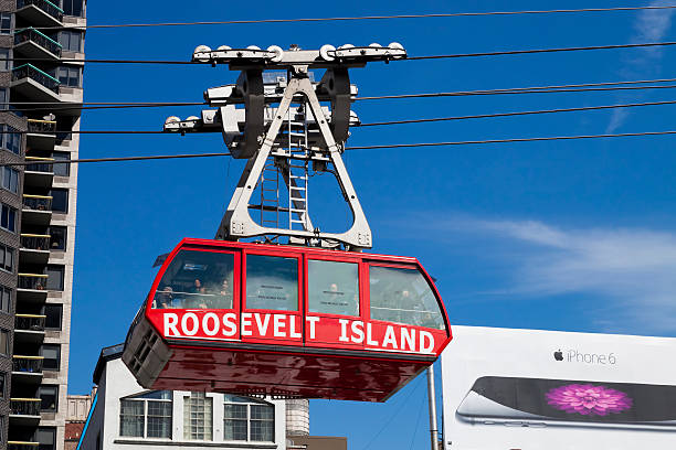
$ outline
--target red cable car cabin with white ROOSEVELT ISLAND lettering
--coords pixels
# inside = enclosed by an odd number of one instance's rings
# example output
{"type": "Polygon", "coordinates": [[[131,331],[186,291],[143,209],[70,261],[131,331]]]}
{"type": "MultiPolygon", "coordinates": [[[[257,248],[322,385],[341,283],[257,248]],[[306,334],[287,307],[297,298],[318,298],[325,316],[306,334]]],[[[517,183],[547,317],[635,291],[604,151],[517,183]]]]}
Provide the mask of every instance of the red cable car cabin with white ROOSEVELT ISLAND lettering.
{"type": "Polygon", "coordinates": [[[151,389],[384,401],[451,339],[415,258],[186,238],[123,360],[151,389]]]}

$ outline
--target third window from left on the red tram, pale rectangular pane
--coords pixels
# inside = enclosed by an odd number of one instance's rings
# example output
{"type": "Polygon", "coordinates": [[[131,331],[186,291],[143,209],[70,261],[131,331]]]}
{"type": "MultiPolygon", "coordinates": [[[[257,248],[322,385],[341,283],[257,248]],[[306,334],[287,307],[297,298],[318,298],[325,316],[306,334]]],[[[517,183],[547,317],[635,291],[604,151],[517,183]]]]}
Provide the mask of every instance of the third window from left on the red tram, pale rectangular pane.
{"type": "Polygon", "coordinates": [[[359,271],[353,262],[307,262],[308,310],[359,315],[359,271]]]}

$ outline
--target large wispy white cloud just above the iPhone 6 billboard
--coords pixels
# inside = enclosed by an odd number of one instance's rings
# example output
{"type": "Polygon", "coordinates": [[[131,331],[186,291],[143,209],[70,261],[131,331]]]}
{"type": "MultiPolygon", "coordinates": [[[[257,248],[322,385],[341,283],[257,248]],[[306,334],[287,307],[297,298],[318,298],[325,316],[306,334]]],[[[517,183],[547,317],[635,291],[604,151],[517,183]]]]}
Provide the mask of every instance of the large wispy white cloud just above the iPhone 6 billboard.
{"type": "Polygon", "coordinates": [[[676,234],[467,217],[448,224],[455,233],[488,235],[498,246],[519,248],[494,256],[510,267],[504,293],[591,294],[596,301],[590,301],[590,311],[601,330],[676,332],[676,234]]]}

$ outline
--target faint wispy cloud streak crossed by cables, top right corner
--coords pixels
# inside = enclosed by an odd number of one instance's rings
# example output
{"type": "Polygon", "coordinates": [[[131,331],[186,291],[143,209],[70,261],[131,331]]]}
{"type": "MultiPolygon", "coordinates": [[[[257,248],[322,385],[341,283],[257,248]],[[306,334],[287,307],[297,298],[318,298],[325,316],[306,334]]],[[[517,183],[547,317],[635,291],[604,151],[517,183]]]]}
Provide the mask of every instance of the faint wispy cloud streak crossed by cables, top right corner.
{"type": "MultiPolygon", "coordinates": [[[[651,7],[669,6],[673,0],[653,0],[651,7]]],[[[641,11],[634,21],[632,39],[633,43],[657,42],[664,39],[672,28],[674,10],[644,10],[641,11]]],[[[658,76],[662,72],[662,49],[643,47],[632,49],[631,55],[623,58],[624,65],[620,71],[625,79],[636,79],[641,77],[658,76]]],[[[623,99],[627,99],[623,96],[623,99]]],[[[615,109],[611,115],[606,132],[614,132],[624,124],[629,117],[626,109],[615,109]]]]}

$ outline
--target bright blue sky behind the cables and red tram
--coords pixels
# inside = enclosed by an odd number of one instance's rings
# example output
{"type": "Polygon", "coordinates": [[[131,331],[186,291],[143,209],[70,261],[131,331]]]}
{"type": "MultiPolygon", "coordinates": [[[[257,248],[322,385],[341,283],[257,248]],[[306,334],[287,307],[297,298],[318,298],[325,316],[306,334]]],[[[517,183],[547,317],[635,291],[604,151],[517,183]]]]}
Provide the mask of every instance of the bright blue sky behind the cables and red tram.
{"type": "MultiPolygon", "coordinates": [[[[91,24],[608,7],[567,1],[201,0],[91,2],[91,24]],[[303,4],[303,3],[299,3],[303,4]]],[[[626,1],[623,6],[642,6],[626,1]]],[[[659,4],[654,1],[649,4],[659,4]]],[[[189,60],[212,47],[401,42],[410,55],[674,41],[659,12],[91,30],[89,58],[189,60]]],[[[360,95],[673,77],[669,47],[373,64],[360,95]]],[[[199,101],[236,73],[210,66],[95,65],[87,101],[199,101]]],[[[656,101],[670,89],[357,103],[363,121],[656,101]]],[[[198,108],[85,111],[82,129],[161,129],[198,108]]],[[[674,129],[674,106],[356,129],[351,146],[674,129]]],[[[676,335],[673,137],[365,150],[346,153],[377,253],[416,256],[439,279],[452,323],[676,335]]],[[[218,136],[83,136],[82,158],[223,151],[218,136]]],[[[214,235],[241,161],[198,159],[80,168],[70,392],[84,393],[101,347],[124,340],[155,276],[182,237],[214,235]]],[[[324,195],[324,192],[326,194],[324,195]]],[[[347,216],[319,191],[313,213],[347,216]]],[[[338,226],[337,226],[338,227],[338,226]]],[[[351,449],[427,447],[421,377],[383,405],[311,403],[311,432],[351,449]],[[422,406],[421,406],[422,405],[422,406]],[[419,419],[420,417],[420,419],[419,419]],[[418,431],[415,431],[418,424],[418,431]],[[383,428],[383,426],[385,426],[383,428]],[[378,433],[378,430],[382,432],[378,433]],[[377,435],[376,439],[373,437],[377,435]]]]}

